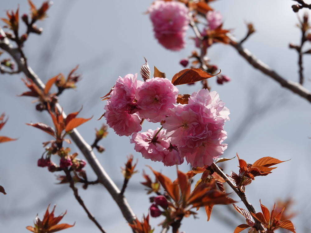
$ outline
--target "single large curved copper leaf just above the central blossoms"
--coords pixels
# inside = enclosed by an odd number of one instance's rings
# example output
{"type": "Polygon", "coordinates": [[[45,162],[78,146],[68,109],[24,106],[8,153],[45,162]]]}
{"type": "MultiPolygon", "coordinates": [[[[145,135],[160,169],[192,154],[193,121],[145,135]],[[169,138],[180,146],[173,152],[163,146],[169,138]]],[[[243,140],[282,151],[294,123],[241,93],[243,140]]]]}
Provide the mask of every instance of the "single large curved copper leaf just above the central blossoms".
{"type": "Polygon", "coordinates": [[[184,69],[173,76],[172,84],[176,86],[181,84],[194,83],[214,76],[215,75],[212,75],[199,68],[184,69]]]}

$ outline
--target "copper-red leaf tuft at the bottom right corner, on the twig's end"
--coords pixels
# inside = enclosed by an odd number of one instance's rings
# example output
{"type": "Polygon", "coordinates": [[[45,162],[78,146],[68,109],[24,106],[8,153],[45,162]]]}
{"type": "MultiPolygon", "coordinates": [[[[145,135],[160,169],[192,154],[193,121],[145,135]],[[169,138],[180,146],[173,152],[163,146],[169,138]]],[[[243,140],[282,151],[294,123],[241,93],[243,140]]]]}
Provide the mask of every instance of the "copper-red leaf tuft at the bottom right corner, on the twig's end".
{"type": "Polygon", "coordinates": [[[235,210],[241,213],[246,218],[246,222],[247,222],[247,224],[241,224],[237,226],[234,230],[234,233],[239,233],[240,231],[243,231],[244,229],[248,227],[254,228],[255,222],[253,221],[253,218],[255,218],[256,220],[262,223],[262,225],[266,228],[266,232],[272,233],[279,228],[283,228],[283,229],[287,229],[289,231],[296,233],[295,227],[290,220],[281,221],[281,215],[282,215],[282,212],[284,211],[284,208],[281,210],[281,212],[274,214],[275,204],[273,206],[271,213],[266,206],[262,205],[261,202],[260,202],[260,206],[261,206],[262,212],[258,212],[256,214],[254,213],[250,214],[248,211],[234,205],[235,210]]]}

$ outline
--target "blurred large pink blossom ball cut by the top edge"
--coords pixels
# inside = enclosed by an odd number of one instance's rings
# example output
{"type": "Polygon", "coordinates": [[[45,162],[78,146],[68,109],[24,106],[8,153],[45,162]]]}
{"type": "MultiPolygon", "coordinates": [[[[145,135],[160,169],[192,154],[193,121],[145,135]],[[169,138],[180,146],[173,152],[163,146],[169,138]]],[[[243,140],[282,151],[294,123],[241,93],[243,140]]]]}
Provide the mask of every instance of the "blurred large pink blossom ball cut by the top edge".
{"type": "Polygon", "coordinates": [[[178,51],[185,46],[188,8],[177,1],[158,0],[149,9],[155,37],[165,48],[178,51]]]}

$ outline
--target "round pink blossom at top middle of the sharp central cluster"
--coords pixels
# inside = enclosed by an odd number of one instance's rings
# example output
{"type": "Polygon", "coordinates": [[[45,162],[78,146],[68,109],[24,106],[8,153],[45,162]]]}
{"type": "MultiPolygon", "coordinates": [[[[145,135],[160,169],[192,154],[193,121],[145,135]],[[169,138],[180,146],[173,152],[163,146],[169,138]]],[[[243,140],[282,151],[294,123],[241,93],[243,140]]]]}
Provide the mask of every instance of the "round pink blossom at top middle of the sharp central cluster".
{"type": "Polygon", "coordinates": [[[174,107],[178,89],[164,78],[147,79],[137,88],[137,108],[147,121],[160,122],[165,119],[169,108],[174,107]]]}

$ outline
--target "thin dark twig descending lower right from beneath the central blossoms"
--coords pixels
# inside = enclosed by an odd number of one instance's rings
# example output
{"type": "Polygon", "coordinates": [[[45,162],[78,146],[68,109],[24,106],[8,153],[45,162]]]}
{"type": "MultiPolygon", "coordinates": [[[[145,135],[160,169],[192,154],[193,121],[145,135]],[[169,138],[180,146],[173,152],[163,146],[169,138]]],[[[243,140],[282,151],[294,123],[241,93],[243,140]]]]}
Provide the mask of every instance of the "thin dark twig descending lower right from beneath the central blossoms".
{"type": "MultiPolygon", "coordinates": [[[[230,188],[232,190],[234,190],[234,192],[236,194],[238,194],[239,198],[241,199],[241,201],[244,203],[244,205],[246,206],[246,208],[248,209],[248,211],[250,213],[256,213],[255,208],[253,207],[253,205],[251,203],[248,202],[245,193],[241,192],[241,190],[237,189],[234,185],[234,183],[229,180],[229,178],[227,177],[227,175],[221,171],[221,169],[216,165],[215,162],[212,163],[211,168],[217,172],[217,174],[219,174],[226,182],[227,184],[230,186],[230,188]]],[[[256,222],[256,226],[258,228],[259,231],[264,231],[265,228],[262,226],[261,222],[259,222],[257,219],[254,219],[256,222]]]]}

